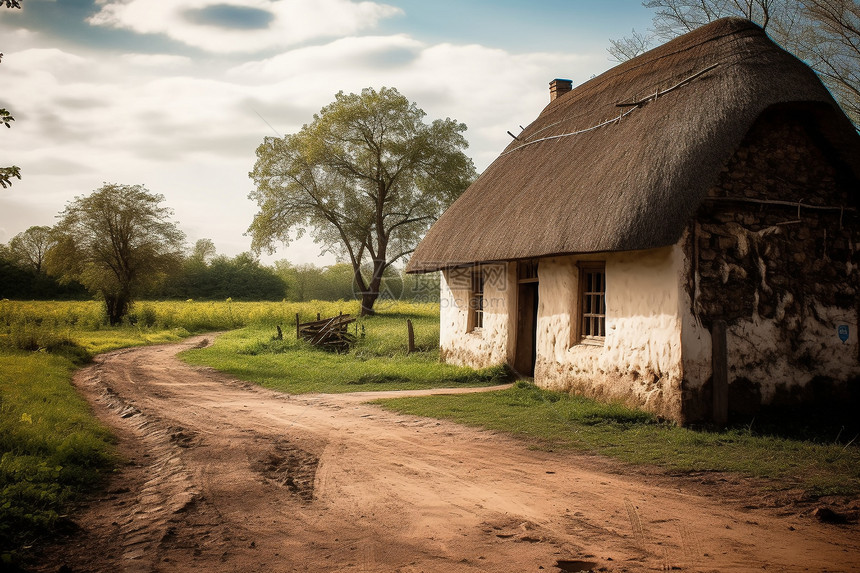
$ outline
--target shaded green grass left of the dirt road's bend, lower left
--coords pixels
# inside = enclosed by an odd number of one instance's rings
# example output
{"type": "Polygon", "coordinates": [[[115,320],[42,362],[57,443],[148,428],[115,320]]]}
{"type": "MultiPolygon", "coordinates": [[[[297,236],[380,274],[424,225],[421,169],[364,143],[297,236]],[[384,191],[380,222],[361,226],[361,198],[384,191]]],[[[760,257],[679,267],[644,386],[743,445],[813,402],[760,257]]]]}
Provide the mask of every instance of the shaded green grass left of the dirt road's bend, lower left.
{"type": "Polygon", "coordinates": [[[0,562],[52,531],[113,468],[110,433],[69,384],[76,364],[0,349],[0,562]]]}

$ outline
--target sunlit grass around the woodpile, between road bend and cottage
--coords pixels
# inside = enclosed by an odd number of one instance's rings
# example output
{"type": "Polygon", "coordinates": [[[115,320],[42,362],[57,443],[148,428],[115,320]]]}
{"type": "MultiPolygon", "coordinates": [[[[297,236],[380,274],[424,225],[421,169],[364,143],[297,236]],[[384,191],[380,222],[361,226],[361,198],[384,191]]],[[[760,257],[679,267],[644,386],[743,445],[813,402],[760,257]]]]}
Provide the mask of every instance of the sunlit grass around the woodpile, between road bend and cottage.
{"type": "Polygon", "coordinates": [[[291,394],[488,386],[509,381],[510,373],[504,367],[475,370],[439,361],[439,319],[434,305],[397,310],[354,323],[352,332],[358,343],[345,354],[297,340],[289,329],[283,340],[275,340],[274,326],[256,324],[223,334],[212,346],[187,350],[181,357],[190,364],[211,366],[291,394]],[[406,353],[407,319],[413,323],[418,349],[412,354],[406,353]]]}

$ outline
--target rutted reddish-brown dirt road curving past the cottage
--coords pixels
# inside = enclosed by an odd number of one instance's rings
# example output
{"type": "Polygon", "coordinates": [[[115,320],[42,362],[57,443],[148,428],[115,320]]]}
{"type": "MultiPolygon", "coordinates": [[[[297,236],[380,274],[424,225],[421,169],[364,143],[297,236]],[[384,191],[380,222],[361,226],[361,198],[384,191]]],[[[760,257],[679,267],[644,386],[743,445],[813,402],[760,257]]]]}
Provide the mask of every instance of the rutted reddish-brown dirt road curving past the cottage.
{"type": "Polygon", "coordinates": [[[534,451],[175,357],[205,343],[113,352],[76,377],[131,462],[36,570],[860,570],[856,525],[754,484],[534,451]]]}

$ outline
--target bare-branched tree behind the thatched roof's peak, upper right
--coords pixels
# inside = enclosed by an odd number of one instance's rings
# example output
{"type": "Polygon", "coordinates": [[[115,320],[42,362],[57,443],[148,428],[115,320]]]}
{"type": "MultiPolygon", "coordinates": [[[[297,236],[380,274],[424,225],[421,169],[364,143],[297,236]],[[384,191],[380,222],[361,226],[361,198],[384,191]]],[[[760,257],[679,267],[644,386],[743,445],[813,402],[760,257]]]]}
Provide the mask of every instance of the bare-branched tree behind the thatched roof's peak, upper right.
{"type": "Polygon", "coordinates": [[[860,3],[857,0],[645,0],[655,9],[650,34],[610,40],[613,59],[625,61],[712,22],[752,20],[787,51],[804,60],[860,126],[860,3]]]}

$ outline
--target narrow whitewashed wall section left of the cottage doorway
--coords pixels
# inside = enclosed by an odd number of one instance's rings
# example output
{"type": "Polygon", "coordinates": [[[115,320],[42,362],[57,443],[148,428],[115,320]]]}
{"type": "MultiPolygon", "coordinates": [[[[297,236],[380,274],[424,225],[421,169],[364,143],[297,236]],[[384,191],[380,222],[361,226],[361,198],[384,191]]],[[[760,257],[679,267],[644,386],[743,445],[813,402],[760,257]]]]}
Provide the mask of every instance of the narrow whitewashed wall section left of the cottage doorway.
{"type": "Polygon", "coordinates": [[[513,265],[484,265],[484,324],[469,329],[472,269],[442,272],[439,347],[442,360],[460,366],[485,368],[508,361],[510,316],[515,313],[516,277],[513,265]]]}

